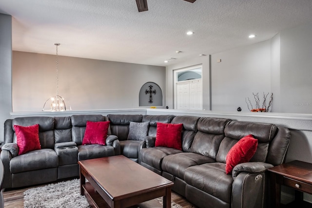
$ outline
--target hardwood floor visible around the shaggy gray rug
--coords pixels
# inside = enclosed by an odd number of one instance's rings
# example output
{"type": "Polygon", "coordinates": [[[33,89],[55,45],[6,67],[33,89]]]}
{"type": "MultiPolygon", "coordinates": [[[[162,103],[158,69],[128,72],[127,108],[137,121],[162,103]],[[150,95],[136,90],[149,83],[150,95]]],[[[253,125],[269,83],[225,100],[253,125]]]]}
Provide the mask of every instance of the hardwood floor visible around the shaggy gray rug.
{"type": "MultiPolygon", "coordinates": [[[[46,185],[46,184],[45,184],[46,185]]],[[[40,186],[45,186],[40,185],[40,186]]],[[[5,189],[3,191],[4,198],[4,208],[23,208],[24,207],[24,191],[31,188],[36,188],[40,186],[32,186],[22,189],[5,189]]],[[[171,194],[172,201],[176,202],[183,208],[196,208],[194,205],[189,203],[185,198],[172,191],[171,194]]]]}

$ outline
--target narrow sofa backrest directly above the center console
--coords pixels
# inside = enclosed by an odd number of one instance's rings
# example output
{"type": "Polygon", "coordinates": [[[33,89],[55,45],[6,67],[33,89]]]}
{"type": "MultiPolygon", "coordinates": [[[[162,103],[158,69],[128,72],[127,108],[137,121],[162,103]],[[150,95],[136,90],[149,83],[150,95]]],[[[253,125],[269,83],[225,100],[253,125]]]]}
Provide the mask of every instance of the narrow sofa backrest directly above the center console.
{"type": "Polygon", "coordinates": [[[70,116],[54,117],[55,143],[72,141],[72,121],[70,116]]]}

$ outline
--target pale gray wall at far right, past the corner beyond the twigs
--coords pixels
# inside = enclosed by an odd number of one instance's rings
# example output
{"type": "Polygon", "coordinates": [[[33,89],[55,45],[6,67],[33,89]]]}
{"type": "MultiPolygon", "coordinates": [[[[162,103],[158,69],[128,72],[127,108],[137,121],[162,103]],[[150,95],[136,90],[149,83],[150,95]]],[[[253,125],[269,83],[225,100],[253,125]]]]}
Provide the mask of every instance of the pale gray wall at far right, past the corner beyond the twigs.
{"type": "Polygon", "coordinates": [[[312,23],[282,31],[281,112],[312,113],[312,23]]]}

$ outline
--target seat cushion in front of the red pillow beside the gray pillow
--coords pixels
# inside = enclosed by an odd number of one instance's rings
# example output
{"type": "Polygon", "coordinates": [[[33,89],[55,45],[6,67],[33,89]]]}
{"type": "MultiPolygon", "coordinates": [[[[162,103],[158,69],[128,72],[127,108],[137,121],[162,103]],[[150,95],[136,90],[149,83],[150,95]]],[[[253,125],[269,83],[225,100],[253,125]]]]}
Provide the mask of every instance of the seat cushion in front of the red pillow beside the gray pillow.
{"type": "Polygon", "coordinates": [[[167,147],[143,148],[140,150],[139,157],[142,163],[161,171],[161,162],[165,156],[181,152],[180,150],[167,147]]]}

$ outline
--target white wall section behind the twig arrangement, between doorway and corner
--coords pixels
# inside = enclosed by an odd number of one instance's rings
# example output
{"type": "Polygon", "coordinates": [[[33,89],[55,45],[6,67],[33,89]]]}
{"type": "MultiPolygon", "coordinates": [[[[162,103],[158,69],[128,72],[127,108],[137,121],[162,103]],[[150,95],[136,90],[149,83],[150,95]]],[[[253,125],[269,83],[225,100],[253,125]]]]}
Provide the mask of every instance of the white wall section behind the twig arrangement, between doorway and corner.
{"type": "Polygon", "coordinates": [[[259,93],[262,106],[263,92],[271,93],[270,54],[271,41],[267,40],[212,55],[212,110],[234,112],[241,107],[247,112],[245,98],[255,108],[253,93],[259,93]]]}

